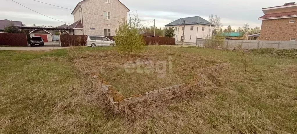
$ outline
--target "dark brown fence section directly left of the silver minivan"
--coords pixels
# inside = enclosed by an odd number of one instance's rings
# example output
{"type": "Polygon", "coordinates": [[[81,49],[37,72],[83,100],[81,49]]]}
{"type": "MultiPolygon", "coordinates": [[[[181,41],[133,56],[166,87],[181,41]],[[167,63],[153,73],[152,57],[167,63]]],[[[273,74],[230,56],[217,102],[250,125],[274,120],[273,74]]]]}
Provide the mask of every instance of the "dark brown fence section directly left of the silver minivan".
{"type": "Polygon", "coordinates": [[[61,46],[86,46],[86,35],[60,35],[61,46]]]}

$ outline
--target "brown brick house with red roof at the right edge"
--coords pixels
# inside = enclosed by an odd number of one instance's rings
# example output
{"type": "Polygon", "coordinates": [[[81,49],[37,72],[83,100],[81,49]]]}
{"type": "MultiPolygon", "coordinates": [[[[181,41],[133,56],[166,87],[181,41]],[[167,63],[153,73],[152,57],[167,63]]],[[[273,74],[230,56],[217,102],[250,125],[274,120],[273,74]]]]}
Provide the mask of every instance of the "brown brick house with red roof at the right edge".
{"type": "Polygon", "coordinates": [[[296,41],[297,4],[285,3],[282,6],[262,9],[263,15],[259,40],[296,41]]]}

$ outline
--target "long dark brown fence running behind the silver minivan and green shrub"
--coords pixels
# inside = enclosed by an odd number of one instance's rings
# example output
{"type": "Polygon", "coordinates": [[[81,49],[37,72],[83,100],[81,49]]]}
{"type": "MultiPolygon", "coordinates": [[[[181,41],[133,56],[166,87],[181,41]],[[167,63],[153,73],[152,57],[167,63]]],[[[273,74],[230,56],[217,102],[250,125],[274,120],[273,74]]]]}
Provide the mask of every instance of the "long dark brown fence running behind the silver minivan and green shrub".
{"type": "MultiPolygon", "coordinates": [[[[113,36],[104,36],[114,40],[113,36]]],[[[86,35],[60,35],[61,46],[85,46],[86,35]]],[[[143,37],[146,45],[175,45],[175,38],[143,37]]]]}

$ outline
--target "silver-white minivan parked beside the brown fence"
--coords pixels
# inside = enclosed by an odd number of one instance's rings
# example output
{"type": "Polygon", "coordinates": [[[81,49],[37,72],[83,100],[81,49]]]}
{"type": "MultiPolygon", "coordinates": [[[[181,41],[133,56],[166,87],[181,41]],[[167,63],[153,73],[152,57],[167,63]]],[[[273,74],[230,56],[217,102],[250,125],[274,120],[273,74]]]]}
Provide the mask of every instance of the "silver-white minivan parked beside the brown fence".
{"type": "Polygon", "coordinates": [[[86,46],[96,47],[96,46],[115,46],[116,43],[109,38],[104,36],[88,35],[86,40],[86,46]]]}

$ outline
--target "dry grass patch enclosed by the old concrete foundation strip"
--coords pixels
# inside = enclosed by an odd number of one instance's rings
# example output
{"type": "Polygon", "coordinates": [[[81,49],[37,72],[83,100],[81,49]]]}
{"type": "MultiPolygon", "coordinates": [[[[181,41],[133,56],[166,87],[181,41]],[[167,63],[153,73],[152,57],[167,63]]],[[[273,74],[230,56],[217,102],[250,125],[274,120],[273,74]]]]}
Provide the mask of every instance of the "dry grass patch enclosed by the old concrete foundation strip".
{"type": "Polygon", "coordinates": [[[216,62],[213,60],[189,57],[183,55],[183,53],[155,54],[154,50],[153,52],[144,52],[132,57],[123,57],[113,50],[86,52],[81,54],[75,61],[78,68],[84,68],[83,70],[87,70],[89,73],[100,74],[111,85],[114,85],[117,92],[125,97],[193,81],[196,75],[195,72],[215,64],[216,62]],[[155,63],[159,61],[167,62],[166,72],[139,73],[134,69],[134,73],[127,73],[124,68],[124,64],[127,62],[144,62],[144,64],[140,65],[141,69],[146,68],[146,66],[156,68],[155,63]],[[168,62],[172,63],[172,69],[169,69],[168,62]]]}

